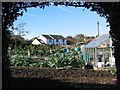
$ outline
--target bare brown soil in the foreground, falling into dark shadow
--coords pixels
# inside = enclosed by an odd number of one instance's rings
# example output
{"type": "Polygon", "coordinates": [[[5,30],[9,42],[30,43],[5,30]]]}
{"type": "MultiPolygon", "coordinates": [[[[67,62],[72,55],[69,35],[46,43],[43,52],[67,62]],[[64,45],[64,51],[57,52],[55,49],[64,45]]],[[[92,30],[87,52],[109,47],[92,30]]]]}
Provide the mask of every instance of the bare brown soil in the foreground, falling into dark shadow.
{"type": "Polygon", "coordinates": [[[104,71],[50,68],[11,68],[9,88],[120,90],[116,76],[104,71]]]}

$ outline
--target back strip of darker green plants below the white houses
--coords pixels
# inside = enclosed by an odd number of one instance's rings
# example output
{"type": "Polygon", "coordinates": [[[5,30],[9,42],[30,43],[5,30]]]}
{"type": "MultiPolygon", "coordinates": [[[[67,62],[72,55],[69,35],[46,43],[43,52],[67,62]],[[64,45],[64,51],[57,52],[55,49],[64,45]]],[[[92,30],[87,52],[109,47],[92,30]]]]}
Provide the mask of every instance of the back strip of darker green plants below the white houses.
{"type": "MultiPolygon", "coordinates": [[[[25,48],[16,47],[11,49],[11,47],[8,48],[9,55],[28,55],[28,52],[30,52],[30,55],[49,55],[50,54],[50,46],[27,46],[25,48]]],[[[54,50],[53,50],[54,51],[54,50]]]]}

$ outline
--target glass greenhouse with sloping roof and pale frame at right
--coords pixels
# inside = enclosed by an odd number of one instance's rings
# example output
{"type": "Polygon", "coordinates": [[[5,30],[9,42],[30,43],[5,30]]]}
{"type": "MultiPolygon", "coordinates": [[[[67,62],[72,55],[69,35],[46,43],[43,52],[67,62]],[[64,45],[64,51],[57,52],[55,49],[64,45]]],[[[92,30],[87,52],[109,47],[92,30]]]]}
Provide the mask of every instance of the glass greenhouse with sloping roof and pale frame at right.
{"type": "Polygon", "coordinates": [[[109,34],[96,37],[90,43],[85,45],[85,51],[88,52],[88,62],[92,62],[95,67],[114,66],[113,56],[114,47],[109,34]]]}

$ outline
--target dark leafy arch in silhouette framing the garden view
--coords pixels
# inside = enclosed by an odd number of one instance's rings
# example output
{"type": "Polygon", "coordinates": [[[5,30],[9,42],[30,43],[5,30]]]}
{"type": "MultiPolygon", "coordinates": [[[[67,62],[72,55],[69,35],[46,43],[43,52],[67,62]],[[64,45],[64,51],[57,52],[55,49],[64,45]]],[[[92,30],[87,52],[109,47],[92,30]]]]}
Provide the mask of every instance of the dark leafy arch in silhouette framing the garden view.
{"type": "MultiPolygon", "coordinates": [[[[17,17],[22,16],[24,11],[27,11],[27,8],[37,7],[45,8],[50,6],[50,2],[3,2],[2,3],[2,33],[5,40],[3,43],[3,56],[2,56],[2,66],[3,74],[6,75],[3,78],[3,83],[7,86],[7,80],[9,77],[8,69],[9,65],[7,64],[7,47],[9,38],[6,35],[7,29],[13,25],[13,22],[17,20],[17,17]]],[[[65,5],[73,7],[85,7],[91,11],[97,12],[101,17],[106,18],[106,21],[110,24],[110,34],[115,45],[115,64],[117,68],[117,82],[120,84],[120,2],[54,2],[54,6],[65,5]]]]}

